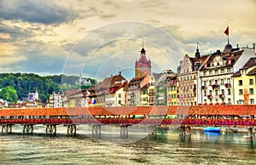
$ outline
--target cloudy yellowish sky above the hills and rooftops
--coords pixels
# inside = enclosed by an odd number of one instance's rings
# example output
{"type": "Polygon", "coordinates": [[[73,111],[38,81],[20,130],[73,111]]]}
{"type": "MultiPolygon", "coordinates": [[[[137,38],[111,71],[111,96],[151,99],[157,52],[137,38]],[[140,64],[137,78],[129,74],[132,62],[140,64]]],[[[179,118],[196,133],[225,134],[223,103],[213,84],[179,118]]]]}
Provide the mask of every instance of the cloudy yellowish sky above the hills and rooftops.
{"type": "Polygon", "coordinates": [[[153,71],[184,54],[256,43],[255,0],[0,0],[0,72],[132,77],[146,48],[153,71]]]}

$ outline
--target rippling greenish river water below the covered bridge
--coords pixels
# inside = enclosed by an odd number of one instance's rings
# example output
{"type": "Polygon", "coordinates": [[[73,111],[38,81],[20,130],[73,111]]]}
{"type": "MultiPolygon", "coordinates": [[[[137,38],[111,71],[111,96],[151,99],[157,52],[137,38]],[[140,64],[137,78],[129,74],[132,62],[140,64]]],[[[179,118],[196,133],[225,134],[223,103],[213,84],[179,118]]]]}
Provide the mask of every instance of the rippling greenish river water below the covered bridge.
{"type": "MultiPolygon", "coordinates": [[[[256,164],[256,138],[243,133],[204,134],[192,130],[191,137],[177,131],[158,128],[131,143],[90,138],[84,134],[67,135],[67,129],[55,136],[44,134],[44,126],[34,134],[21,134],[15,126],[12,134],[0,135],[0,164],[256,164]]],[[[126,139],[132,137],[129,133],[126,139]]],[[[123,139],[125,139],[123,137],[123,139]]]]}

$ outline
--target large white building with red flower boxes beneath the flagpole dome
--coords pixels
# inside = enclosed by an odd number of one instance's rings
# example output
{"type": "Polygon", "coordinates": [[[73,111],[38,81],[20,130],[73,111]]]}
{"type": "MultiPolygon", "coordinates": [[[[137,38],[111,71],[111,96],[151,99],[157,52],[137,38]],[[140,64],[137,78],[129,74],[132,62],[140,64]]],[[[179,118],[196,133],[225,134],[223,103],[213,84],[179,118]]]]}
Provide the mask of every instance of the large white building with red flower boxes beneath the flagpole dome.
{"type": "Polygon", "coordinates": [[[204,105],[234,104],[232,75],[255,57],[254,48],[232,48],[213,53],[201,66],[201,103],[204,105]]]}

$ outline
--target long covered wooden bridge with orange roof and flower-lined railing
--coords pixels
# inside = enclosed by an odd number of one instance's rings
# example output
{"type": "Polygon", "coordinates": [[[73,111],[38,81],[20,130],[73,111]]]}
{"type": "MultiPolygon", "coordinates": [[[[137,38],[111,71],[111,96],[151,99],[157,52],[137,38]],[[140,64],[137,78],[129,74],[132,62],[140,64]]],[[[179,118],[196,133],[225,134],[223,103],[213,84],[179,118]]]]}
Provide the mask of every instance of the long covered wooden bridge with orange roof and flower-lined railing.
{"type": "Polygon", "coordinates": [[[55,134],[57,125],[67,126],[67,134],[76,134],[78,124],[91,124],[95,133],[101,130],[102,124],[119,124],[120,132],[125,134],[132,124],[146,124],[153,129],[172,124],[187,133],[191,126],[236,126],[252,133],[255,115],[256,105],[0,109],[0,124],[2,133],[10,133],[15,124],[23,126],[23,133],[32,133],[34,125],[44,124],[46,134],[55,134]]]}

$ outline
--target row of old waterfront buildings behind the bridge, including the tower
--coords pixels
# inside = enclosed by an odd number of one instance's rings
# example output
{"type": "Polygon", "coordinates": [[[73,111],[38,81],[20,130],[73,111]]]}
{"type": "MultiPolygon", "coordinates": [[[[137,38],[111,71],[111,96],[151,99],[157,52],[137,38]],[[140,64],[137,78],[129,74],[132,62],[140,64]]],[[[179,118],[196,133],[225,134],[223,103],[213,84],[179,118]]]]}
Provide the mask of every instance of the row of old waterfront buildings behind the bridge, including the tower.
{"type": "Polygon", "coordinates": [[[256,55],[253,48],[232,48],[195,57],[183,56],[177,73],[151,73],[151,63],[143,48],[136,61],[135,77],[105,78],[88,90],[66,97],[68,106],[123,105],[241,105],[256,101],[256,55]],[[75,95],[77,97],[75,97],[75,95]]]}

